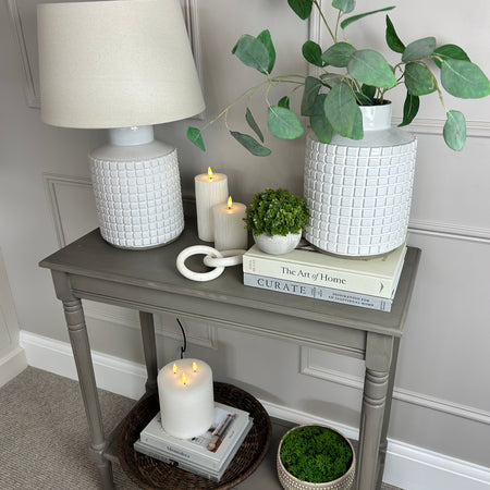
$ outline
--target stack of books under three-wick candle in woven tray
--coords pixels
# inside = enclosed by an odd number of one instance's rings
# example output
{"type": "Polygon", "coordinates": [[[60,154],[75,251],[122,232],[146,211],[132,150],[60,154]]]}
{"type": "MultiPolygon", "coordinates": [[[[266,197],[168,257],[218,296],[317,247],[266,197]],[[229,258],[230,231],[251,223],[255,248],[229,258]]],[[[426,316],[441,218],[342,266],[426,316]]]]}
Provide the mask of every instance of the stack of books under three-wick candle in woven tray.
{"type": "Polygon", "coordinates": [[[215,420],[209,430],[193,439],[177,439],[163,430],[159,412],[140,432],[134,450],[220,481],[252,425],[247,412],[215,402],[215,420]]]}

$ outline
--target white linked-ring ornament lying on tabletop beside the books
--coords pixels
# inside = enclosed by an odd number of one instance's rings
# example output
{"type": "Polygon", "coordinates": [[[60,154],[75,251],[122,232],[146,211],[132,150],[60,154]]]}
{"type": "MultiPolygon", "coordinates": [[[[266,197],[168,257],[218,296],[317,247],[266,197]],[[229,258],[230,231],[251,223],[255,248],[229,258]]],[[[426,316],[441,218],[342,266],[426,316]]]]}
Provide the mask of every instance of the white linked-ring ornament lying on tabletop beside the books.
{"type": "Polygon", "coordinates": [[[176,258],[176,268],[184,278],[191,279],[192,281],[212,281],[223,273],[225,267],[242,264],[243,254],[245,254],[245,252],[246,250],[242,249],[219,252],[216,248],[206,245],[194,245],[184,248],[179,254],[176,258]],[[216,269],[209,272],[194,272],[189,270],[185,265],[185,260],[193,255],[199,254],[206,255],[204,258],[204,264],[206,266],[215,267],[216,269]]]}

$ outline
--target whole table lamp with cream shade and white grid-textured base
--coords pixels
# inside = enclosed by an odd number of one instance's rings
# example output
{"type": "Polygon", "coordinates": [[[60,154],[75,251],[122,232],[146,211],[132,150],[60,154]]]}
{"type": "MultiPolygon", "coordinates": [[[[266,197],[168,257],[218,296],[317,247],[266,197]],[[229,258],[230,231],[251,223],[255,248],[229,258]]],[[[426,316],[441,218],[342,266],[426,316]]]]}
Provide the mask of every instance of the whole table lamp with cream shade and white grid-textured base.
{"type": "Polygon", "coordinates": [[[184,229],[176,149],[154,124],[205,109],[179,0],[38,5],[41,118],[108,128],[89,155],[102,237],[144,249],[184,229]]]}

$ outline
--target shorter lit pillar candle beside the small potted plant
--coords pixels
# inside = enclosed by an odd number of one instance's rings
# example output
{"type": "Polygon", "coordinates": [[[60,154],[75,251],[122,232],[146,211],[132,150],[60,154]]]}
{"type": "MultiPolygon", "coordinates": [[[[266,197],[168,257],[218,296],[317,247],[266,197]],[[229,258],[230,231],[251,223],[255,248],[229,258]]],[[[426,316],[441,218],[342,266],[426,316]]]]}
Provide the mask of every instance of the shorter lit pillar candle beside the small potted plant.
{"type": "Polygon", "coordinates": [[[245,228],[246,206],[242,203],[228,203],[216,205],[212,208],[215,221],[215,248],[231,250],[248,248],[248,232],[245,228]]]}

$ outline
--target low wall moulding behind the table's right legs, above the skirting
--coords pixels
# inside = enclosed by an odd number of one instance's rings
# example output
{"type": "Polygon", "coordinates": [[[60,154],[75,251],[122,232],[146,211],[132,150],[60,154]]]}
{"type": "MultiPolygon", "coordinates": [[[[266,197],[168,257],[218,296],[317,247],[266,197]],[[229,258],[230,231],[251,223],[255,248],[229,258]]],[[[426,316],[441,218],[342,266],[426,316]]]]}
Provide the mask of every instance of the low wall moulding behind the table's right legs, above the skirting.
{"type": "MultiPolygon", "coordinates": [[[[363,379],[358,376],[341,372],[324,366],[315,364],[311,358],[310,347],[301,347],[299,372],[302,375],[311,376],[326,381],[331,381],[344,387],[363,390],[363,379]]],[[[395,387],[393,389],[393,400],[411,403],[424,408],[442,412],[455,417],[463,417],[471,421],[490,424],[490,413],[479,408],[450,402],[448,400],[438,399],[436,396],[417,393],[409,390],[395,387]]]]}

